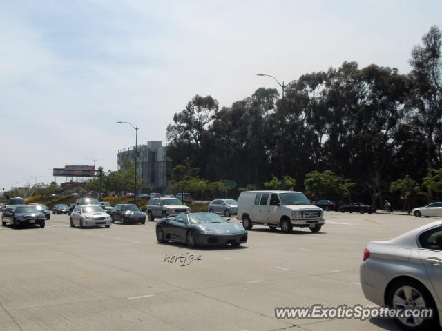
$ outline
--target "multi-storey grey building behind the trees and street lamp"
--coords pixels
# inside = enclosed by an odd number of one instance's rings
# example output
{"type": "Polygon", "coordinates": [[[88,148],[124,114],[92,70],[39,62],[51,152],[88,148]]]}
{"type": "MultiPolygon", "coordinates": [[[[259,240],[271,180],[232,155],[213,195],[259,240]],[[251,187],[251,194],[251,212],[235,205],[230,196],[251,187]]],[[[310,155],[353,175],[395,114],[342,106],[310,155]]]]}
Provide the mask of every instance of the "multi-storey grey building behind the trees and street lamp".
{"type": "MultiPolygon", "coordinates": [[[[164,194],[171,182],[166,173],[171,168],[171,161],[166,156],[166,146],[161,141],[148,141],[147,145],[137,146],[137,176],[142,179],[144,185],[137,193],[159,192],[164,194]]],[[[118,169],[128,157],[135,162],[135,146],[118,150],[118,169]]]]}

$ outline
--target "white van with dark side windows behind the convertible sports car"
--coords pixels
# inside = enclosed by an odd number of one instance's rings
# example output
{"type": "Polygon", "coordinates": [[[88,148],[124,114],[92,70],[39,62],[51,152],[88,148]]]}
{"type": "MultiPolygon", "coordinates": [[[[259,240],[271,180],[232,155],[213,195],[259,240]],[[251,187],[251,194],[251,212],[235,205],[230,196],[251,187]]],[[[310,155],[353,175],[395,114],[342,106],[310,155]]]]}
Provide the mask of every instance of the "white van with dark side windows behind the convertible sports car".
{"type": "Polygon", "coordinates": [[[238,198],[238,219],[246,230],[253,224],[281,227],[289,233],[294,226],[318,232],[324,225],[323,210],[312,205],[301,192],[249,191],[238,198]]]}

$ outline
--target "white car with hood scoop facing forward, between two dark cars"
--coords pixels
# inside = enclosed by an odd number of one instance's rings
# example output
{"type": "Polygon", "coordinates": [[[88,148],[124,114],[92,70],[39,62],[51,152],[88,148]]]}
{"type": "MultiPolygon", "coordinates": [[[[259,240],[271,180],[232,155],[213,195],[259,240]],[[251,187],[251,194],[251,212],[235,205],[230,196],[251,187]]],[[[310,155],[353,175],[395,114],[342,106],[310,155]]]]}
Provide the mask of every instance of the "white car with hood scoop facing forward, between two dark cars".
{"type": "Polygon", "coordinates": [[[100,205],[76,205],[70,214],[70,226],[73,228],[76,225],[80,228],[97,225],[104,225],[109,228],[111,224],[111,216],[104,212],[100,205]]]}

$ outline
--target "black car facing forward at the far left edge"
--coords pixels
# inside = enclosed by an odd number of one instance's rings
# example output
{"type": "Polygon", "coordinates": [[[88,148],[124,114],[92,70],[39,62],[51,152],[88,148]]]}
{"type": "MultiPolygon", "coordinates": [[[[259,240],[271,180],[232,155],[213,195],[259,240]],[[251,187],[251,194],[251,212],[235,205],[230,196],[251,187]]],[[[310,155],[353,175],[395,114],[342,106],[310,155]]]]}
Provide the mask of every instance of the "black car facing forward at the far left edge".
{"type": "Polygon", "coordinates": [[[18,225],[39,224],[41,228],[45,226],[45,217],[37,209],[36,205],[7,205],[1,214],[1,225],[12,224],[14,228],[18,225]]]}

